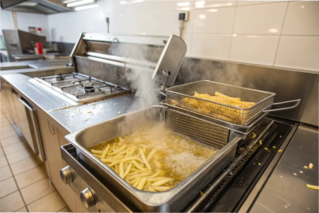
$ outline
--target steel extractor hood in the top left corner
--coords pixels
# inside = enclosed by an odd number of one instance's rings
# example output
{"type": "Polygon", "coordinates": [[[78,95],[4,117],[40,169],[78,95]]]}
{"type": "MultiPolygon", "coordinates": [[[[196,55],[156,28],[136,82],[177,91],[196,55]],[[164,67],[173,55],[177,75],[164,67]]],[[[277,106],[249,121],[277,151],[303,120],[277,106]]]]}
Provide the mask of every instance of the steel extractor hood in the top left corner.
{"type": "Polygon", "coordinates": [[[62,0],[0,0],[4,10],[53,14],[72,11],[63,5],[62,0]]]}

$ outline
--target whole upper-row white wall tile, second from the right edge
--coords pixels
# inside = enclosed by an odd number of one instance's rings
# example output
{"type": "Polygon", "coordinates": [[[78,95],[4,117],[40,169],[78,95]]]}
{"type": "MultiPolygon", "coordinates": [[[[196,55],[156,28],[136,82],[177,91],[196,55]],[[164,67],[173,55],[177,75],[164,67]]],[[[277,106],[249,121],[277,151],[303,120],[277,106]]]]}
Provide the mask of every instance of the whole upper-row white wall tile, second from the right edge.
{"type": "Polygon", "coordinates": [[[234,34],[280,34],[288,3],[237,7],[234,34]]]}

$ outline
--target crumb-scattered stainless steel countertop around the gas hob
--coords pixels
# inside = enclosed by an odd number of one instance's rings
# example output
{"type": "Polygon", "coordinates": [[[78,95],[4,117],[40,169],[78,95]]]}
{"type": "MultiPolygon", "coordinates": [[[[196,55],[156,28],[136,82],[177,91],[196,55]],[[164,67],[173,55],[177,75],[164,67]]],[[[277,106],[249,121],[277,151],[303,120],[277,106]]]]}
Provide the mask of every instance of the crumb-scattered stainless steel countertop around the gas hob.
{"type": "Polygon", "coordinates": [[[77,105],[71,99],[65,101],[65,98],[59,98],[34,85],[28,81],[31,77],[24,74],[5,74],[1,75],[1,78],[8,82],[34,108],[45,111],[52,118],[53,124],[65,134],[126,113],[134,101],[133,95],[128,94],[77,105]]]}

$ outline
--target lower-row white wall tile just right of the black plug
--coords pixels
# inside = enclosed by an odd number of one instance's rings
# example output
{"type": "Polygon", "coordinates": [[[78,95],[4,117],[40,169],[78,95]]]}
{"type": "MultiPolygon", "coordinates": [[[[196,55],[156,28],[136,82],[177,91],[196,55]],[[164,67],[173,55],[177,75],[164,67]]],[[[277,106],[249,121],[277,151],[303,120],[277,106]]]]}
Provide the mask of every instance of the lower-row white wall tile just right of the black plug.
{"type": "Polygon", "coordinates": [[[228,60],[231,35],[193,34],[191,56],[228,60]]]}

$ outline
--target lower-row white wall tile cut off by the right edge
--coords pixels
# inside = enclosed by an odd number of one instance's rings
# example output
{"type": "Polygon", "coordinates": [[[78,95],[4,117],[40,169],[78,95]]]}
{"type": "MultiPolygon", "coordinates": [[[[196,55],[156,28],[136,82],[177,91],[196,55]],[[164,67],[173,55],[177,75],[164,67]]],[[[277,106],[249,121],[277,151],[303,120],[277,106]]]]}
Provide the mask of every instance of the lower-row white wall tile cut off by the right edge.
{"type": "Polygon", "coordinates": [[[319,71],[319,36],[281,36],[275,66],[319,71]]]}

